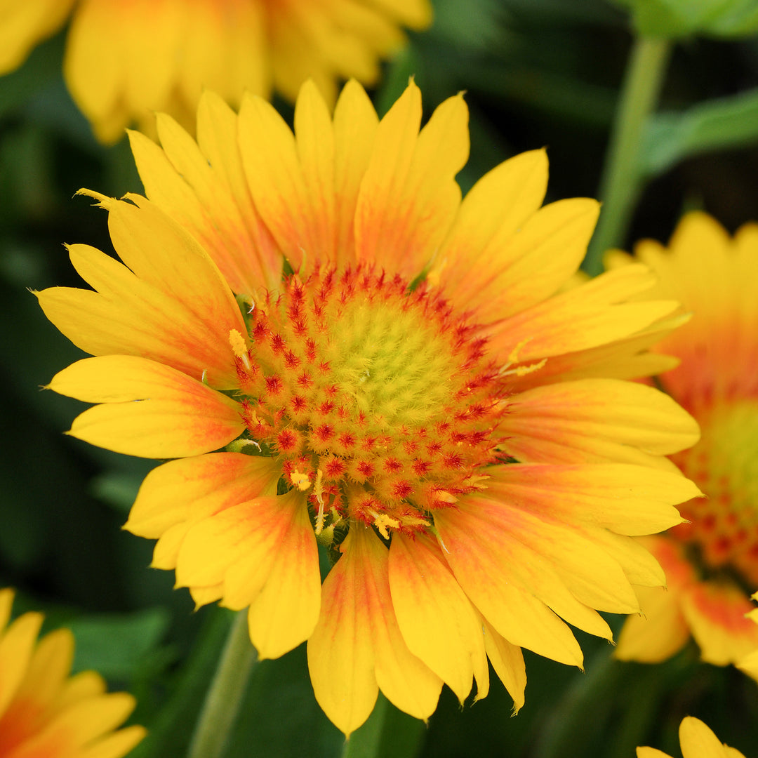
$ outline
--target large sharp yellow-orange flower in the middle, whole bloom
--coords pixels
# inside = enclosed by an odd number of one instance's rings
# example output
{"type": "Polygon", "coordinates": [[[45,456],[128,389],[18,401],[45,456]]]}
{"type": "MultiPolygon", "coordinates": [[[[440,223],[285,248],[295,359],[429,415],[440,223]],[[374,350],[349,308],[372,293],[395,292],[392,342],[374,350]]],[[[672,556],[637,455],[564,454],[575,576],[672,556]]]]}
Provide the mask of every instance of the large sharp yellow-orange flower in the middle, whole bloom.
{"type": "Polygon", "coordinates": [[[96,291],[39,293],[98,356],[50,385],[100,403],[70,434],[175,459],[127,529],[196,602],[249,608],[262,657],[308,640],[346,733],[379,688],[422,719],[443,682],[484,697],[487,656],[516,708],[520,647],[581,666],[565,622],[610,639],[597,609],[664,581],[629,535],[697,495],[663,458],[696,424],[623,378],[670,365],[645,348],[676,302],[626,302],[642,265],[559,292],[597,202],[540,208],[540,150],[462,201],[462,97],[420,124],[413,83],[381,121],[359,84],[332,117],[306,83],[294,134],[207,94],[198,143],[131,135],[149,199],[97,196],[123,265],[70,246],[96,291]]]}

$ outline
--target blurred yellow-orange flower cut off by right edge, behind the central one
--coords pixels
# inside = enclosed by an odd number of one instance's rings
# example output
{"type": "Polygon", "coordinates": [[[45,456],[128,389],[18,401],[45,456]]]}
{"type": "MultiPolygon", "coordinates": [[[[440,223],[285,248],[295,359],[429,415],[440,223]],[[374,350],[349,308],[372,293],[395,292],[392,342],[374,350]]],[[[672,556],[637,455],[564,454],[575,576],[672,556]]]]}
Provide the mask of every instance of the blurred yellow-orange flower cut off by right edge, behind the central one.
{"type": "Polygon", "coordinates": [[[656,295],[693,314],[656,349],[680,359],[659,378],[702,429],[672,460],[706,498],[681,507],[688,523],[646,542],[669,591],[641,590],[644,616],[628,619],[616,655],[658,662],[692,635],[703,660],[725,666],[758,647],[758,627],[745,618],[758,587],[758,226],[730,239],[713,218],[691,213],[668,250],[644,240],[635,257],[658,274],[656,295]]]}

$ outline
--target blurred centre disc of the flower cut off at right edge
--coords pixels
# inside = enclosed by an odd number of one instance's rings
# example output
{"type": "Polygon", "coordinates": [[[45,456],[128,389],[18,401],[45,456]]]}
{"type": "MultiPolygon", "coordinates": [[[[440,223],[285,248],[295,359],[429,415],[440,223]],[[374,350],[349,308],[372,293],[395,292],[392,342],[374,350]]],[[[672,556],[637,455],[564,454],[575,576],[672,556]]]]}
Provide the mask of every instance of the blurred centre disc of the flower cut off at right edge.
{"type": "Polygon", "coordinates": [[[691,524],[677,527],[711,568],[735,569],[758,584],[758,402],[716,406],[700,418],[703,437],[675,461],[707,494],[680,507],[691,524]]]}

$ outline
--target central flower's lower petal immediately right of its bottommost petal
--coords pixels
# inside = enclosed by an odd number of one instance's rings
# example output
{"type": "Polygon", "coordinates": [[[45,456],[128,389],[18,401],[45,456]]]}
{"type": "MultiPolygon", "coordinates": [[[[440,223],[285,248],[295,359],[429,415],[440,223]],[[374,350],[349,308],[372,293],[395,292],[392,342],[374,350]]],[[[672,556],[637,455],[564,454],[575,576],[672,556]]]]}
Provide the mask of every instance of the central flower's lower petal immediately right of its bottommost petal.
{"type": "Polygon", "coordinates": [[[472,676],[487,667],[481,624],[440,549],[424,537],[393,536],[390,590],[409,650],[463,702],[472,676]]]}

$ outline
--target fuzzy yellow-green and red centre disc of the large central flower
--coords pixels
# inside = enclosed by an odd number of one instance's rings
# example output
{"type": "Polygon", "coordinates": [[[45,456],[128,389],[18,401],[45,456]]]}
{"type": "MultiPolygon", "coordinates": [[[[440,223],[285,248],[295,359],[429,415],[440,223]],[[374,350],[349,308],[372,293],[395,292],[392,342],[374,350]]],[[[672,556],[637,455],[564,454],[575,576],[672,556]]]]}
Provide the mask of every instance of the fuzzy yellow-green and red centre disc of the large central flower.
{"type": "Polygon", "coordinates": [[[326,514],[384,537],[423,529],[496,459],[503,383],[475,327],[423,284],[360,266],[293,276],[255,303],[249,336],[249,434],[309,492],[318,533],[326,514]]]}

